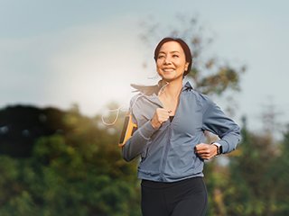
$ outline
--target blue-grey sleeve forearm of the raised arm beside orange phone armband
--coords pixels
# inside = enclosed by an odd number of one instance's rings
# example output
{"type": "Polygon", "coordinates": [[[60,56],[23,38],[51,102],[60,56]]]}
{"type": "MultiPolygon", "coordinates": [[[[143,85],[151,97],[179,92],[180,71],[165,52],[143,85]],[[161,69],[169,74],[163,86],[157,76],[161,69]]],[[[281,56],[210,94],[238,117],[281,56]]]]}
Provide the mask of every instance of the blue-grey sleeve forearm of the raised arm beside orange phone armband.
{"type": "MultiPolygon", "coordinates": [[[[132,102],[131,102],[132,105],[132,102]]],[[[133,110],[133,107],[130,108],[133,110]]],[[[143,125],[139,126],[139,122],[135,118],[134,112],[132,112],[133,121],[137,124],[138,129],[135,130],[133,136],[127,139],[125,145],[122,148],[122,156],[126,161],[131,161],[135,157],[139,156],[149,142],[151,136],[154,134],[154,129],[150,121],[146,121],[143,125]]]]}

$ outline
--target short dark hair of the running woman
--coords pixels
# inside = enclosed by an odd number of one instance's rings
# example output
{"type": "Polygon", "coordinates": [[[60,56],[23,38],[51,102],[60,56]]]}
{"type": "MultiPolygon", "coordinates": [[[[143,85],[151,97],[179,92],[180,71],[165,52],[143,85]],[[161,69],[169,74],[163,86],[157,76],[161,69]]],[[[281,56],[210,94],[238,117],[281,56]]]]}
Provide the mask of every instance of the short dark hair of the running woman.
{"type": "Polygon", "coordinates": [[[166,43],[166,42],[169,42],[169,41],[176,41],[182,47],[182,50],[183,50],[184,55],[186,57],[186,62],[189,62],[188,69],[185,70],[184,74],[183,74],[183,76],[186,76],[191,71],[192,56],[191,56],[191,49],[189,48],[188,44],[185,41],[183,41],[182,39],[180,39],[180,38],[171,38],[171,37],[163,38],[163,40],[161,40],[157,44],[156,48],[154,49],[154,60],[156,61],[157,56],[158,56],[158,54],[160,52],[160,49],[163,46],[163,43],[166,43]]]}

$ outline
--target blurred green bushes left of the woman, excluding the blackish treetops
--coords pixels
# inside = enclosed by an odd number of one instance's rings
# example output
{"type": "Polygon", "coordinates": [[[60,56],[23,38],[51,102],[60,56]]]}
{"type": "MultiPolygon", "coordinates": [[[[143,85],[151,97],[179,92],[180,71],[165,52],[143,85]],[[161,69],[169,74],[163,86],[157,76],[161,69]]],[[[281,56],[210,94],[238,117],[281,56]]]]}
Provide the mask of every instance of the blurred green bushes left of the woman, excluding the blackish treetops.
{"type": "Polygon", "coordinates": [[[31,157],[0,156],[0,215],[139,215],[136,164],[117,147],[119,129],[73,109],[69,132],[37,139],[31,157]]]}

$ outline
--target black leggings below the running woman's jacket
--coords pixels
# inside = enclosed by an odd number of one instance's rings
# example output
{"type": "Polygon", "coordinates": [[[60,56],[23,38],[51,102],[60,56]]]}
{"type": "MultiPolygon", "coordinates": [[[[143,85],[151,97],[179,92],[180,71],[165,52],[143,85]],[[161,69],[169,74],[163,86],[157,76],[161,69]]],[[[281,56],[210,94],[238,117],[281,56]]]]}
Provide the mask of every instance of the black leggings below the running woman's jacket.
{"type": "Polygon", "coordinates": [[[202,177],[175,183],[142,181],[143,216],[203,216],[207,204],[202,177]]]}

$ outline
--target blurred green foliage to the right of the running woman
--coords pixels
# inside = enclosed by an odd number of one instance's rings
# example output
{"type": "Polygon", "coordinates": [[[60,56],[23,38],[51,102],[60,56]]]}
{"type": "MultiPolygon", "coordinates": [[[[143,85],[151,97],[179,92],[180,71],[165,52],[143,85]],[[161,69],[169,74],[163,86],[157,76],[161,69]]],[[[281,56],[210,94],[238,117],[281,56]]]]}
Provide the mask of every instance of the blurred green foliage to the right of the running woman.
{"type": "Polygon", "coordinates": [[[228,155],[228,166],[219,164],[221,157],[206,163],[208,215],[288,215],[289,127],[282,142],[270,134],[252,133],[246,124],[242,138],[228,155]]]}

